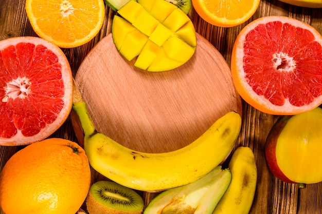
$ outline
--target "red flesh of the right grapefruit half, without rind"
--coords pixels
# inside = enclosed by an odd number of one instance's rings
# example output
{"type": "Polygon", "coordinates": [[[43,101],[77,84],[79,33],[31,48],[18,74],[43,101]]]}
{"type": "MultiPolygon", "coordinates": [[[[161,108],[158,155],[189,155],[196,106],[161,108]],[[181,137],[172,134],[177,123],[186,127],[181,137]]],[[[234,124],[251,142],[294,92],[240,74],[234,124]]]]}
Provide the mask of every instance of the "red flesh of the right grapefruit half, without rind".
{"type": "Polygon", "coordinates": [[[306,29],[275,21],[245,38],[247,83],[276,106],[305,106],[322,95],[322,47],[306,29]]]}

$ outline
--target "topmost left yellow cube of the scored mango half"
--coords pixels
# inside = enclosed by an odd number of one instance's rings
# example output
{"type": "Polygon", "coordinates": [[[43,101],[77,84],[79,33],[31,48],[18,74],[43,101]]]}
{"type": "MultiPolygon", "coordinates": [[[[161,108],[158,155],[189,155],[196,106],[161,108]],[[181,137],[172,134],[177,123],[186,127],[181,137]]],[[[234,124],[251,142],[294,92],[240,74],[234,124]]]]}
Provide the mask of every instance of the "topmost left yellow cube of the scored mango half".
{"type": "Polygon", "coordinates": [[[121,7],[117,12],[130,23],[134,23],[142,10],[144,9],[140,4],[137,4],[135,1],[130,1],[121,7]]]}

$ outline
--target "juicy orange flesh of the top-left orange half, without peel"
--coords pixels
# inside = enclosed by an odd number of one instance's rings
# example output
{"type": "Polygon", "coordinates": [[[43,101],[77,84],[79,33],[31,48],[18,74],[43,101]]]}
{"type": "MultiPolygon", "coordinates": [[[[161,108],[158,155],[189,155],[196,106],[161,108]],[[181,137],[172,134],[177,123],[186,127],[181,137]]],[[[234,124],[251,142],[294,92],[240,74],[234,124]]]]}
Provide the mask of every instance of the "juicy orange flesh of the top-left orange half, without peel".
{"type": "Polygon", "coordinates": [[[39,28],[53,40],[71,43],[83,39],[96,28],[100,12],[92,4],[91,1],[33,1],[32,12],[39,28]]]}

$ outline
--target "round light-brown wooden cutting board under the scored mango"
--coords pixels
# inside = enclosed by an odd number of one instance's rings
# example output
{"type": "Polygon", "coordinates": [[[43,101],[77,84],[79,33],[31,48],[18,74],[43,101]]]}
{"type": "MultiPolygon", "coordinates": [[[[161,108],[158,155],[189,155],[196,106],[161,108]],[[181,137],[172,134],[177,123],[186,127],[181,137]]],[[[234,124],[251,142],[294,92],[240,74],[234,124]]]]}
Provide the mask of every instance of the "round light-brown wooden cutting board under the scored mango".
{"type": "Polygon", "coordinates": [[[165,72],[134,67],[104,37],[75,76],[98,131],[131,149],[167,152],[182,148],[241,100],[219,51],[197,34],[197,48],[183,66],[165,72]]]}

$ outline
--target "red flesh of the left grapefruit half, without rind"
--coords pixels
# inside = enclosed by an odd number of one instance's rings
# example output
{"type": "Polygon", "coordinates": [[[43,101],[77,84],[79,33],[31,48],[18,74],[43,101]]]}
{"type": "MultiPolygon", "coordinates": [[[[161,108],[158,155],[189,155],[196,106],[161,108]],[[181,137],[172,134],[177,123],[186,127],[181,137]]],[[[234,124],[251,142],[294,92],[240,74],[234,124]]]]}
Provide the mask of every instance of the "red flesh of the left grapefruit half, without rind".
{"type": "Polygon", "coordinates": [[[64,106],[61,64],[42,45],[19,43],[0,52],[0,137],[26,137],[56,120],[64,106]]]}

